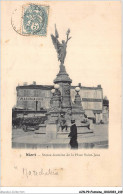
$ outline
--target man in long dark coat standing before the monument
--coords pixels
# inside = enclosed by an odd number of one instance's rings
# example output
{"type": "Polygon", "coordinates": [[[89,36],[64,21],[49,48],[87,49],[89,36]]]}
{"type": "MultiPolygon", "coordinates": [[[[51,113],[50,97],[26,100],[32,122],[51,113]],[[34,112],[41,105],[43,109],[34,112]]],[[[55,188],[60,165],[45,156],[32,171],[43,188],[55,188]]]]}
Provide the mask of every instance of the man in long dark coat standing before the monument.
{"type": "Polygon", "coordinates": [[[78,149],[78,142],[77,142],[77,126],[75,124],[75,120],[71,120],[71,127],[70,127],[70,146],[71,149],[78,149]]]}

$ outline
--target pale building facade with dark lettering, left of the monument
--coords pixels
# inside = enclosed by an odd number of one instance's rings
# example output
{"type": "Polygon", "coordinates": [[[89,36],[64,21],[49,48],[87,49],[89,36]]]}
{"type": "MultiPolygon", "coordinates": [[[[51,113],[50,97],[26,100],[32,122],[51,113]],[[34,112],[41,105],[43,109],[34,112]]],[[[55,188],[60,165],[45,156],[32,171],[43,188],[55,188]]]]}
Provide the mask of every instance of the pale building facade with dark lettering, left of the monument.
{"type": "Polygon", "coordinates": [[[53,89],[53,86],[36,84],[17,86],[16,107],[35,111],[48,109],[50,107],[51,89],[53,89]]]}

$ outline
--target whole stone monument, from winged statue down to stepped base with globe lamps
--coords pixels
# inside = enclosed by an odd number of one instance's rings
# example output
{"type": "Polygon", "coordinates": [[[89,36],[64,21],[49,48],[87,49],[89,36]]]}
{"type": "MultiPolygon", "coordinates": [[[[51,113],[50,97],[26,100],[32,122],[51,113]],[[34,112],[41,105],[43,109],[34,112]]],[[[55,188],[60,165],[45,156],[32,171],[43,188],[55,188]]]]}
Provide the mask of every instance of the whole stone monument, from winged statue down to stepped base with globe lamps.
{"type": "MultiPolygon", "coordinates": [[[[50,109],[48,110],[46,134],[48,139],[56,139],[59,134],[69,134],[70,121],[75,119],[78,127],[78,133],[92,133],[89,128],[89,122],[84,118],[84,110],[79,95],[80,88],[76,87],[76,95],[74,103],[71,101],[70,86],[72,80],[66,72],[64,62],[66,57],[66,50],[70,29],[66,32],[66,40],[62,40],[60,43],[58,38],[59,34],[55,25],[55,35],[51,34],[53,45],[57,51],[58,61],[60,61],[59,73],[54,79],[54,89],[52,89],[52,98],[50,101],[50,109]],[[64,123],[63,123],[64,120],[64,123]],[[66,130],[63,130],[65,128],[66,130]],[[62,129],[62,130],[61,130],[62,129]]],[[[64,137],[64,136],[62,136],[64,137]]]]}

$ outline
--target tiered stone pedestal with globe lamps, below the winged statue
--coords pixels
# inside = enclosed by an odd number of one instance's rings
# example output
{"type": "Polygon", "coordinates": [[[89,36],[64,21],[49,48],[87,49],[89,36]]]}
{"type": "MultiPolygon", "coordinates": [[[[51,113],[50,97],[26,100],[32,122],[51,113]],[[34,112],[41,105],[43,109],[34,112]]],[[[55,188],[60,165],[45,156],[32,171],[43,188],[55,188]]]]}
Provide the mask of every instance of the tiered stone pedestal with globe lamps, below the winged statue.
{"type": "MultiPolygon", "coordinates": [[[[52,91],[52,98],[50,101],[51,108],[48,110],[48,122],[46,125],[46,137],[47,141],[55,140],[58,136],[64,136],[68,138],[70,132],[71,119],[75,119],[77,127],[79,127],[79,133],[92,133],[89,131],[89,124],[82,126],[82,120],[84,118],[84,110],[81,104],[81,97],[79,95],[79,88],[76,88],[77,94],[75,95],[74,103],[72,104],[70,96],[70,88],[72,80],[69,78],[69,75],[66,73],[65,66],[60,65],[60,71],[57,74],[56,79],[54,80],[55,86],[52,91]],[[62,114],[61,114],[62,113],[62,114]],[[59,126],[61,125],[60,116],[64,115],[65,126],[68,127],[68,130],[60,134],[59,126]],[[83,128],[84,127],[84,128],[83,128]],[[84,130],[84,131],[83,131],[84,130]]],[[[61,125],[61,127],[64,127],[61,125]]]]}

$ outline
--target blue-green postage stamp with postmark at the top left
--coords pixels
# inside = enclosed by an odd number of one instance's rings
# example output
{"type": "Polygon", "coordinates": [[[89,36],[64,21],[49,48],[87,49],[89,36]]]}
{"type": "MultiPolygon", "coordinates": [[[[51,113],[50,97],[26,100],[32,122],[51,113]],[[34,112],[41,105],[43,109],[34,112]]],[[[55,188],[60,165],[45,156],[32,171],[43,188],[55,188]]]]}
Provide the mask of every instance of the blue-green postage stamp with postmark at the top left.
{"type": "Polygon", "coordinates": [[[22,34],[46,36],[49,6],[28,4],[23,6],[22,34]]]}

